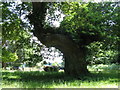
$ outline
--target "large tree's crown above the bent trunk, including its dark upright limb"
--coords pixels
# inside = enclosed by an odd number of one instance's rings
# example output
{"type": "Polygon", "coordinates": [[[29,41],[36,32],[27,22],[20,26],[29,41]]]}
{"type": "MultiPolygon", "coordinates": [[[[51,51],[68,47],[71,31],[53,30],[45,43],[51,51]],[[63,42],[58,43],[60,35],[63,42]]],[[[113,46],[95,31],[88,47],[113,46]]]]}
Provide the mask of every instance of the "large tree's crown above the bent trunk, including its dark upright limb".
{"type": "Polygon", "coordinates": [[[39,32],[67,34],[73,41],[81,45],[87,45],[93,41],[102,41],[105,38],[118,38],[119,35],[118,2],[33,3],[32,15],[31,22],[33,20],[34,23],[37,23],[36,20],[40,19],[38,26],[41,29],[39,32]],[[65,15],[58,28],[51,26],[52,20],[57,21],[60,18],[60,14],[55,15],[55,11],[65,15]],[[46,20],[47,14],[51,16],[46,20]]]}

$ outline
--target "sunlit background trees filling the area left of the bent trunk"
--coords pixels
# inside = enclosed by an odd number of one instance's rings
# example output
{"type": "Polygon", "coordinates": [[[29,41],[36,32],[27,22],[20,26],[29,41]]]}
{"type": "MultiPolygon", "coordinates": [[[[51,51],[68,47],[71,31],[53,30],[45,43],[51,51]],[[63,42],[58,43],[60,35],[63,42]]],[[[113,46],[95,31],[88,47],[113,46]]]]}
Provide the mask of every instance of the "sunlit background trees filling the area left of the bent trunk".
{"type": "Polygon", "coordinates": [[[3,15],[3,67],[6,65],[6,62],[23,63],[29,61],[36,64],[39,60],[42,60],[40,53],[38,54],[41,46],[35,40],[33,41],[32,29],[28,23],[24,23],[26,19],[22,19],[24,14],[27,13],[24,7],[29,4],[24,5],[24,3],[17,4],[14,2],[3,2],[1,5],[3,15]]]}

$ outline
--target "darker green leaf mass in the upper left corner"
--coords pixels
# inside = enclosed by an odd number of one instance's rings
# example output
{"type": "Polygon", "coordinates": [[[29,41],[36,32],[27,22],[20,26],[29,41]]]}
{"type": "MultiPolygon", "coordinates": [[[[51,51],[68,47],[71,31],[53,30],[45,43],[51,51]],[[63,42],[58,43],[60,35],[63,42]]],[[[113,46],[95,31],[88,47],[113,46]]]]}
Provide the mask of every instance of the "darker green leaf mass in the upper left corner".
{"type": "Polygon", "coordinates": [[[11,3],[2,3],[2,39],[18,40],[21,35],[21,19],[18,15],[10,11],[11,3]]]}

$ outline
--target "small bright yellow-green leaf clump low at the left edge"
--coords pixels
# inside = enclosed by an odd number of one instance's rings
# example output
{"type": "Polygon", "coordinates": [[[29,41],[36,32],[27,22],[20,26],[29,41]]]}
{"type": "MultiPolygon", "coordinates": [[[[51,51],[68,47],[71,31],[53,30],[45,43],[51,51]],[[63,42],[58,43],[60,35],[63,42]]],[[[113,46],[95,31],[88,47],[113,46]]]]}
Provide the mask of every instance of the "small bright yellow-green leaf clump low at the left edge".
{"type": "Polygon", "coordinates": [[[6,49],[2,50],[2,62],[14,62],[18,59],[16,53],[7,51],[6,49]]]}

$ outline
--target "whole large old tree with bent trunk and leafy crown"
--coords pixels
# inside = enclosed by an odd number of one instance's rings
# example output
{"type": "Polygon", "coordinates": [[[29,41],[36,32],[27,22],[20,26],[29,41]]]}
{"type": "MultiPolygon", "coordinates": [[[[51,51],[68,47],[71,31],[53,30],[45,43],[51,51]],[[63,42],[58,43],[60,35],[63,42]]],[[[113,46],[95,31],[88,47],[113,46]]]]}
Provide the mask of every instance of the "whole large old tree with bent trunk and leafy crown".
{"type": "Polygon", "coordinates": [[[47,47],[62,51],[66,74],[87,74],[86,45],[104,40],[106,34],[109,36],[106,30],[113,27],[109,21],[115,23],[112,11],[116,3],[32,2],[32,6],[28,18],[34,26],[34,35],[47,47]],[[56,16],[55,11],[65,15],[59,27],[51,23],[60,18],[60,14],[56,16]]]}

